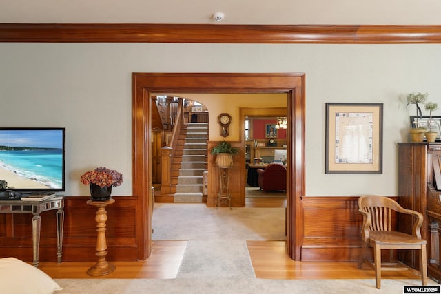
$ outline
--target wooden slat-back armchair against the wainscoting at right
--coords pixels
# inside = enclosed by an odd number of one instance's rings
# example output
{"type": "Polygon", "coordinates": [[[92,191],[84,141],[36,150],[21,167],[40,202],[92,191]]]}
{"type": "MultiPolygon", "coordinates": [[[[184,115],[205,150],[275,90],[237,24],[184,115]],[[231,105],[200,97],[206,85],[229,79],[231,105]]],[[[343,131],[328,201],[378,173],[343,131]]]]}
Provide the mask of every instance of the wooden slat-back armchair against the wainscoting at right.
{"type": "MultiPolygon", "coordinates": [[[[381,262],[382,249],[419,249],[420,252],[420,273],[422,285],[427,284],[427,256],[426,240],[421,239],[420,228],[422,226],[422,214],[404,209],[396,201],[382,196],[362,196],[358,199],[359,212],[363,215],[362,239],[364,246],[358,269],[361,269],[365,259],[367,247],[373,247],[373,263],[369,262],[375,270],[376,287],[381,287],[381,271],[398,271],[407,269],[404,266],[391,267],[391,264],[381,262]],[[405,213],[416,218],[413,224],[412,235],[391,231],[392,213],[405,213]]],[[[397,265],[397,264],[396,264],[397,265]]]]}

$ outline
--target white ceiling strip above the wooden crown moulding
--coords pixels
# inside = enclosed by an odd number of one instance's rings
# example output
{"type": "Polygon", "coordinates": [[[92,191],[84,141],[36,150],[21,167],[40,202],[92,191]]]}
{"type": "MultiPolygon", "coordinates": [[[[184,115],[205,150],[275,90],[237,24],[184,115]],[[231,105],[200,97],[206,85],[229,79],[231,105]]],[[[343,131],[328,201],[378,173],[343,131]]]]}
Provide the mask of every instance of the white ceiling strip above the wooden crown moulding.
{"type": "Polygon", "coordinates": [[[441,0],[0,0],[0,23],[440,25],[441,0]]]}

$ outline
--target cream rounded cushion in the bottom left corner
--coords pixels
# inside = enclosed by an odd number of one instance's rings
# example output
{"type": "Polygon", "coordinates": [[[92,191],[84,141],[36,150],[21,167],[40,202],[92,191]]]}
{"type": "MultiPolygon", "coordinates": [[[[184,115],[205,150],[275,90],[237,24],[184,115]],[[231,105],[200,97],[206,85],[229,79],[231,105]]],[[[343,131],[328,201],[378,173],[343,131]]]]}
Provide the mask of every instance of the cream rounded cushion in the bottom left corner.
{"type": "Polygon", "coordinates": [[[62,290],[59,284],[35,266],[17,258],[0,258],[1,293],[50,294],[57,290],[62,290]]]}

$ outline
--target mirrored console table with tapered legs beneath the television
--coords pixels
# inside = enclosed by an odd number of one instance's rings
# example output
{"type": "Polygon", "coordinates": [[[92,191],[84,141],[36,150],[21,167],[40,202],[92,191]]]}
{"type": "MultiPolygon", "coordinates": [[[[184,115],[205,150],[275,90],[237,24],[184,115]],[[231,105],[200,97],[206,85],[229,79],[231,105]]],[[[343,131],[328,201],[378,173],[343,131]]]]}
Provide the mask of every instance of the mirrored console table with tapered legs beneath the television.
{"type": "Polygon", "coordinates": [[[34,266],[39,266],[40,213],[57,209],[57,262],[61,263],[63,254],[64,199],[61,196],[43,201],[0,200],[0,213],[32,213],[32,253],[34,266]]]}

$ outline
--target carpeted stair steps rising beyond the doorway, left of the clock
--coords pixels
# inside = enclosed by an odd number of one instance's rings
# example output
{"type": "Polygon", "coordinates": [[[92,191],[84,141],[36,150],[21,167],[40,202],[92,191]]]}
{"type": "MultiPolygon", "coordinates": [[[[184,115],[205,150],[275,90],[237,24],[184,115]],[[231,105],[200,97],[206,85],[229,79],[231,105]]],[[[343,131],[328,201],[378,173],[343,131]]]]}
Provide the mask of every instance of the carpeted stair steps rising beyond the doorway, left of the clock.
{"type": "Polygon", "coordinates": [[[189,123],[183,144],[174,202],[203,202],[203,173],[207,170],[208,123],[189,123]]]}

